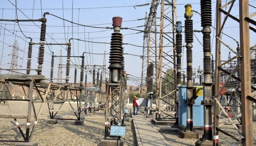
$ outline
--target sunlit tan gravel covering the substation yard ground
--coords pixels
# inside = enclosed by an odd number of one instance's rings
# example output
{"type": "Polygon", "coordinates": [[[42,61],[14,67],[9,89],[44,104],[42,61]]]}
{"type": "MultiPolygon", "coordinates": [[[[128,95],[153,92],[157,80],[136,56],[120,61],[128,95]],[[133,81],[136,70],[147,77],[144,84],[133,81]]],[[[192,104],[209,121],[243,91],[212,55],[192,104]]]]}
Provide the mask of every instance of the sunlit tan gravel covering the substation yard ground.
{"type": "MultiPolygon", "coordinates": [[[[26,102],[8,101],[10,104],[12,115],[26,115],[27,104],[26,102]]],[[[41,104],[35,104],[35,110],[38,112],[41,104]]],[[[73,104],[76,107],[76,104],[73,104]]],[[[58,105],[55,107],[58,108],[58,105]]],[[[0,111],[5,112],[4,115],[11,115],[7,110],[7,105],[0,104],[0,111]]],[[[65,103],[61,107],[58,115],[75,118],[70,105],[65,103]]],[[[104,113],[97,111],[96,114],[89,113],[85,117],[83,125],[75,125],[74,120],[58,120],[57,124],[49,124],[49,111],[47,104],[42,108],[42,118],[38,121],[36,130],[33,135],[32,141],[38,142],[39,146],[97,146],[104,138],[104,113]],[[97,118],[96,118],[97,117],[97,118]]],[[[84,113],[81,114],[83,116],[84,113]]],[[[33,118],[32,118],[33,119],[33,118]]],[[[26,120],[17,119],[23,132],[26,129],[26,120]]],[[[34,121],[31,121],[31,125],[34,121]]],[[[136,146],[135,137],[133,134],[132,122],[125,122],[126,135],[121,137],[125,146],[136,146]]],[[[30,126],[31,127],[31,126],[30,126]]],[[[167,126],[160,126],[167,127],[167,126]]],[[[232,125],[225,125],[221,127],[222,130],[228,131],[230,134],[237,134],[232,125]]],[[[176,132],[160,132],[165,140],[171,146],[194,146],[197,139],[182,139],[176,132]]],[[[202,137],[200,135],[199,137],[202,137]]],[[[239,137],[238,137],[239,138],[239,137]]],[[[256,146],[256,122],[253,122],[253,140],[256,146]]],[[[22,140],[22,136],[15,125],[13,119],[0,119],[0,140],[22,140]]],[[[219,141],[222,146],[230,146],[236,141],[220,132],[219,141]]],[[[16,142],[0,142],[1,146],[14,146],[16,142]]]]}

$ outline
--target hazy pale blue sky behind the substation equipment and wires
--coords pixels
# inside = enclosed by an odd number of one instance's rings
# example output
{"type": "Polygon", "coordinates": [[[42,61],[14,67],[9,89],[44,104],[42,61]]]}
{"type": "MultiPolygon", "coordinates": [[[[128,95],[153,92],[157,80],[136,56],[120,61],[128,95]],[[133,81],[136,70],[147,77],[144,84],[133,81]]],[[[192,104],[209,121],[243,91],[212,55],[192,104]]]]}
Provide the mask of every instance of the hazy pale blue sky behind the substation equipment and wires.
{"type": "MultiPolygon", "coordinates": [[[[256,0],[249,0],[251,5],[256,5],[256,0]]],[[[143,7],[133,7],[133,5],[150,3],[149,0],[1,0],[0,6],[0,19],[40,19],[42,18],[42,13],[49,12],[50,14],[57,15],[61,18],[67,19],[69,21],[87,25],[87,26],[96,26],[96,27],[112,27],[112,18],[114,16],[120,16],[123,18],[122,27],[134,27],[138,30],[144,30],[144,27],[138,27],[144,25],[145,20],[138,20],[145,17],[145,12],[149,12],[150,6],[143,7]],[[15,16],[15,5],[17,5],[17,15],[15,16]],[[34,8],[34,9],[33,9],[34,8]],[[42,9],[41,9],[42,8],[42,9]]],[[[200,13],[200,1],[191,0],[189,3],[192,4],[192,9],[200,13]]],[[[226,3],[226,1],[223,1],[226,3]]],[[[182,22],[184,26],[184,5],[186,4],[183,0],[177,0],[177,21],[182,22]]],[[[215,0],[212,1],[212,25],[215,27],[215,0]]],[[[234,16],[239,15],[238,12],[238,1],[234,4],[234,8],[231,11],[231,14],[234,16]]],[[[229,7],[223,8],[228,11],[229,7]]],[[[255,12],[255,8],[249,7],[249,13],[255,12]]],[[[200,15],[193,13],[193,22],[194,30],[201,30],[200,26],[200,15]]],[[[157,11],[157,15],[160,15],[160,5],[157,11]]],[[[170,16],[171,17],[171,16],[170,16]]],[[[223,16],[224,17],[224,16],[223,16]]],[[[88,43],[83,41],[71,40],[72,51],[71,54],[75,56],[82,55],[83,52],[90,52],[96,54],[86,54],[85,64],[87,65],[103,65],[103,53],[109,53],[109,44],[110,37],[113,30],[104,29],[104,28],[91,28],[78,26],[77,24],[72,24],[69,22],[63,22],[63,20],[56,18],[52,15],[46,15],[47,27],[46,27],[46,41],[47,43],[65,43],[69,38],[83,39],[86,41],[92,42],[101,42],[101,43],[88,43]],[[97,55],[98,54],[98,55],[97,55]]],[[[253,19],[253,18],[252,18],[253,19]]],[[[160,24],[160,19],[157,20],[157,24],[160,24]]],[[[26,68],[27,62],[27,48],[29,39],[26,37],[33,38],[33,42],[38,43],[40,37],[40,26],[41,22],[0,22],[0,52],[1,68],[10,68],[12,47],[11,45],[15,40],[19,44],[19,57],[23,59],[18,59],[18,68],[26,68]],[[39,27],[38,27],[39,26],[39,27]],[[20,28],[19,28],[20,27],[20,28]],[[22,30],[24,36],[20,30],[22,30]],[[4,42],[4,43],[3,43],[4,42]],[[21,67],[20,67],[21,66],[21,67]]],[[[255,27],[255,26],[254,26],[255,27]]],[[[159,31],[159,27],[157,28],[159,31]]],[[[184,30],[184,28],[183,28],[184,30]]],[[[137,33],[138,31],[134,30],[121,30],[121,33],[124,35],[123,43],[130,43],[133,45],[143,46],[143,33],[137,33]]],[[[231,20],[227,20],[227,23],[224,26],[223,32],[230,35],[232,38],[236,39],[239,42],[239,23],[231,20]]],[[[184,33],[183,33],[184,35],[184,33]]],[[[215,35],[215,31],[212,28],[212,38],[215,35]]],[[[250,31],[251,46],[255,45],[256,35],[254,32],[250,31]]],[[[202,45],[202,33],[195,32],[193,42],[193,68],[198,68],[200,66],[203,69],[203,49],[202,45]]],[[[184,36],[183,36],[184,37],[184,36]]],[[[212,39],[211,38],[211,39],[212,39]]],[[[236,50],[237,44],[233,39],[223,35],[223,41],[229,44],[236,50]]],[[[158,40],[159,42],[159,40],[158,40]]],[[[165,42],[164,42],[165,43],[165,42]]],[[[142,47],[135,47],[131,45],[123,45],[124,53],[134,54],[134,55],[124,55],[125,57],[125,70],[128,74],[133,76],[140,77],[142,72],[142,59],[136,55],[142,55],[142,47]]],[[[38,47],[39,45],[33,46],[33,58],[32,58],[32,67],[37,68],[37,56],[38,56],[38,47]]],[[[42,74],[46,78],[50,78],[50,52],[53,51],[54,55],[60,55],[60,50],[62,50],[62,55],[66,55],[65,46],[52,45],[45,46],[45,62],[43,64],[42,74]]],[[[222,60],[227,59],[228,52],[225,47],[222,50],[222,60]]],[[[186,56],[182,55],[183,63],[182,68],[186,67],[186,56]]],[[[212,54],[215,54],[215,38],[212,39],[212,54]]],[[[106,55],[106,66],[108,67],[109,55],[106,55]]],[[[66,62],[66,58],[62,58],[63,64],[66,62]]],[[[81,59],[72,58],[71,64],[80,64],[81,59]]],[[[54,78],[57,78],[59,58],[54,60],[54,78]]],[[[184,70],[185,71],[185,70],[184,70]]],[[[25,71],[21,71],[25,73],[25,71]]],[[[7,73],[3,70],[1,73],[7,73]]],[[[36,74],[35,71],[31,71],[31,74],[36,74]]],[[[80,72],[78,73],[78,77],[80,72]]],[[[65,78],[65,70],[63,69],[62,77],[65,78]]],[[[107,75],[108,77],[108,75],[107,75]]],[[[88,81],[91,81],[89,76],[88,81]]],[[[74,82],[74,68],[70,70],[70,82],[74,82]]],[[[77,78],[79,81],[79,78],[77,78]]],[[[128,82],[129,85],[138,85],[133,82],[128,82]]]]}

